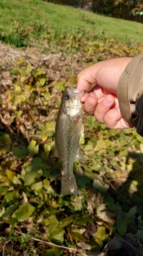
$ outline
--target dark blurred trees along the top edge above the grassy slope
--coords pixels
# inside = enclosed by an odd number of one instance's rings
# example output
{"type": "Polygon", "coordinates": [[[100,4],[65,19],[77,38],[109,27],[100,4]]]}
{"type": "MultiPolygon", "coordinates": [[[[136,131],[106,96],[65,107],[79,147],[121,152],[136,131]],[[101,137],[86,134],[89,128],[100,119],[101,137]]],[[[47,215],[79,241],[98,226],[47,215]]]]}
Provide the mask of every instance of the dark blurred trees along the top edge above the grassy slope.
{"type": "Polygon", "coordinates": [[[143,3],[141,0],[44,0],[54,4],[68,5],[92,11],[109,17],[123,18],[143,23],[143,3]]]}

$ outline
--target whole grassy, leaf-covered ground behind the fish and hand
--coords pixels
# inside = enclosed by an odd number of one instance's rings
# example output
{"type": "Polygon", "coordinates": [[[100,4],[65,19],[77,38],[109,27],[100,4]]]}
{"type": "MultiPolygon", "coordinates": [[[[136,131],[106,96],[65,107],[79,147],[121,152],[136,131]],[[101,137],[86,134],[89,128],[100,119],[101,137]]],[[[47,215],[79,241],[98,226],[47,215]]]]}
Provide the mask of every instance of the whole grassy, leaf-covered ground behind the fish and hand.
{"type": "Polygon", "coordinates": [[[78,196],[62,196],[61,162],[51,155],[65,87],[93,63],[142,53],[143,25],[40,0],[0,8],[0,253],[142,255],[143,139],[135,129],[109,130],[84,113],[78,196]]]}

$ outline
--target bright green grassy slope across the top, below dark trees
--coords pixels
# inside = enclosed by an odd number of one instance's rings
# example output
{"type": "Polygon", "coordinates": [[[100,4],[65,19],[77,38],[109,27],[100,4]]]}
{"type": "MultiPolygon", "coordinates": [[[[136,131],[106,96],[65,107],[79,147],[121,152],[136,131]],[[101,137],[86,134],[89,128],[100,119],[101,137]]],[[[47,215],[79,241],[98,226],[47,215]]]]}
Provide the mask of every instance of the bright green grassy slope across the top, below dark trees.
{"type": "MultiPolygon", "coordinates": [[[[1,0],[0,10],[0,38],[10,44],[16,36],[22,36],[23,40],[30,37],[40,39],[41,35],[46,37],[48,33],[53,33],[56,39],[61,34],[76,36],[82,33],[89,38],[91,34],[98,38],[105,35],[126,44],[140,43],[143,40],[143,24],[104,17],[42,0],[1,0]]],[[[25,42],[24,44],[26,46],[25,42]]]]}

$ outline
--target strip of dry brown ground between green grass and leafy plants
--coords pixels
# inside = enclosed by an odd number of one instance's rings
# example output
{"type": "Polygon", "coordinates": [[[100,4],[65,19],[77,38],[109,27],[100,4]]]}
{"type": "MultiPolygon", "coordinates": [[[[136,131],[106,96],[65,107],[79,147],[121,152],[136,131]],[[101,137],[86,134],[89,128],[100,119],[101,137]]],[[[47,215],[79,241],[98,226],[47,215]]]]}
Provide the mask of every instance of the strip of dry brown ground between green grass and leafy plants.
{"type": "MultiPolygon", "coordinates": [[[[41,54],[35,48],[13,48],[0,42],[0,83],[1,92],[10,83],[10,70],[18,59],[22,58],[26,63],[34,66],[35,69],[43,67],[51,81],[58,81],[63,78],[69,80],[71,71],[74,77],[85,67],[81,65],[80,54],[41,54]]],[[[85,61],[86,63],[86,61],[85,61]]]]}

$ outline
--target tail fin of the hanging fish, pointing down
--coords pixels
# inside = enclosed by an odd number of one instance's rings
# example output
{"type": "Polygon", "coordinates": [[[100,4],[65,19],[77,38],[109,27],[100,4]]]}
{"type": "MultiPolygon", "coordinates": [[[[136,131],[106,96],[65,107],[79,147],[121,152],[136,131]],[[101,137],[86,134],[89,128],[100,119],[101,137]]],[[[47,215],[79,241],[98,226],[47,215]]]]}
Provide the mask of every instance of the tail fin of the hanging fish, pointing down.
{"type": "Polygon", "coordinates": [[[74,174],[70,177],[67,177],[65,175],[62,176],[62,195],[65,196],[67,194],[73,194],[77,195],[77,184],[74,174]]]}

